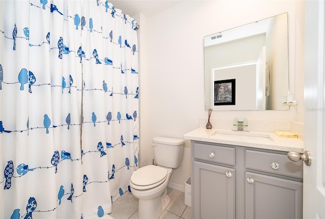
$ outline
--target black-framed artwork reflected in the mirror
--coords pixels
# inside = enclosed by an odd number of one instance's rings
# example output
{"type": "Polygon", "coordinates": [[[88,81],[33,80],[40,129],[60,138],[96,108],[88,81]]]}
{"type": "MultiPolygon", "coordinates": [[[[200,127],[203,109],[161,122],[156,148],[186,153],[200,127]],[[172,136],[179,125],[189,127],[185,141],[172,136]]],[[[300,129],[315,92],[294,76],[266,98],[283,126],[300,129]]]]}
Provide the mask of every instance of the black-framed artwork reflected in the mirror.
{"type": "Polygon", "coordinates": [[[235,105],[236,79],[214,81],[214,105],[235,105]]]}

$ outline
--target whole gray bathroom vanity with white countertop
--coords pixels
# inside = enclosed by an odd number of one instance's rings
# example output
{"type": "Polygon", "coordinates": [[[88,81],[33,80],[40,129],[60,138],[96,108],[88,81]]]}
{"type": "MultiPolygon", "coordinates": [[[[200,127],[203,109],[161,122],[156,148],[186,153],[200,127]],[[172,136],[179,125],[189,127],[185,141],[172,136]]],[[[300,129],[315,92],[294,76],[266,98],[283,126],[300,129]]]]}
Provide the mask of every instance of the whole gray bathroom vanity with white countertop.
{"type": "Polygon", "coordinates": [[[198,128],[191,140],[192,218],[302,218],[303,141],[198,128]]]}

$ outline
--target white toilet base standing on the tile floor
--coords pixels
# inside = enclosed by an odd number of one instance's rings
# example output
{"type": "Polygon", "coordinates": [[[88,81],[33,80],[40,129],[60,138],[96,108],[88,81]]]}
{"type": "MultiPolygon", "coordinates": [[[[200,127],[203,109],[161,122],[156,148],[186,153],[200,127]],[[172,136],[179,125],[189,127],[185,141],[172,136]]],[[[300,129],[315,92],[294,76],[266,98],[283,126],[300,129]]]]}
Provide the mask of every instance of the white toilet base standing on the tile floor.
{"type": "Polygon", "coordinates": [[[156,219],[167,208],[171,202],[166,192],[154,199],[141,200],[139,199],[138,218],[139,219],[156,219]]]}

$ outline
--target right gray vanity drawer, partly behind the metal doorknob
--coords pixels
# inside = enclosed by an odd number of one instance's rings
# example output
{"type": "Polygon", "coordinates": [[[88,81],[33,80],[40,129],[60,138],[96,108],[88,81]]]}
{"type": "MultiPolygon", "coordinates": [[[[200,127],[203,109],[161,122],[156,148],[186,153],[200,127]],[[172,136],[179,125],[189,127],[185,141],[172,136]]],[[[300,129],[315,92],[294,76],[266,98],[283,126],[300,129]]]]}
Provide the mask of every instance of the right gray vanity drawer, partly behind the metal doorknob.
{"type": "Polygon", "coordinates": [[[290,161],[285,154],[245,151],[246,168],[303,178],[303,162],[290,161]]]}

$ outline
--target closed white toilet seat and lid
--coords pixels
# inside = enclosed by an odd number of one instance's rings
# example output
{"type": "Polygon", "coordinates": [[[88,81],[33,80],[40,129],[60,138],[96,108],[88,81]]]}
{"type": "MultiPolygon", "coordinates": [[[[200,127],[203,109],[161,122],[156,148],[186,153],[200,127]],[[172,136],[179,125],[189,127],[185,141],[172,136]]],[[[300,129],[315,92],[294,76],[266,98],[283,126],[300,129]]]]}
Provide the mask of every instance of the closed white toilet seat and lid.
{"type": "Polygon", "coordinates": [[[163,167],[155,165],[144,166],[133,172],[130,183],[134,189],[151,189],[163,183],[168,173],[168,169],[163,167]]]}

